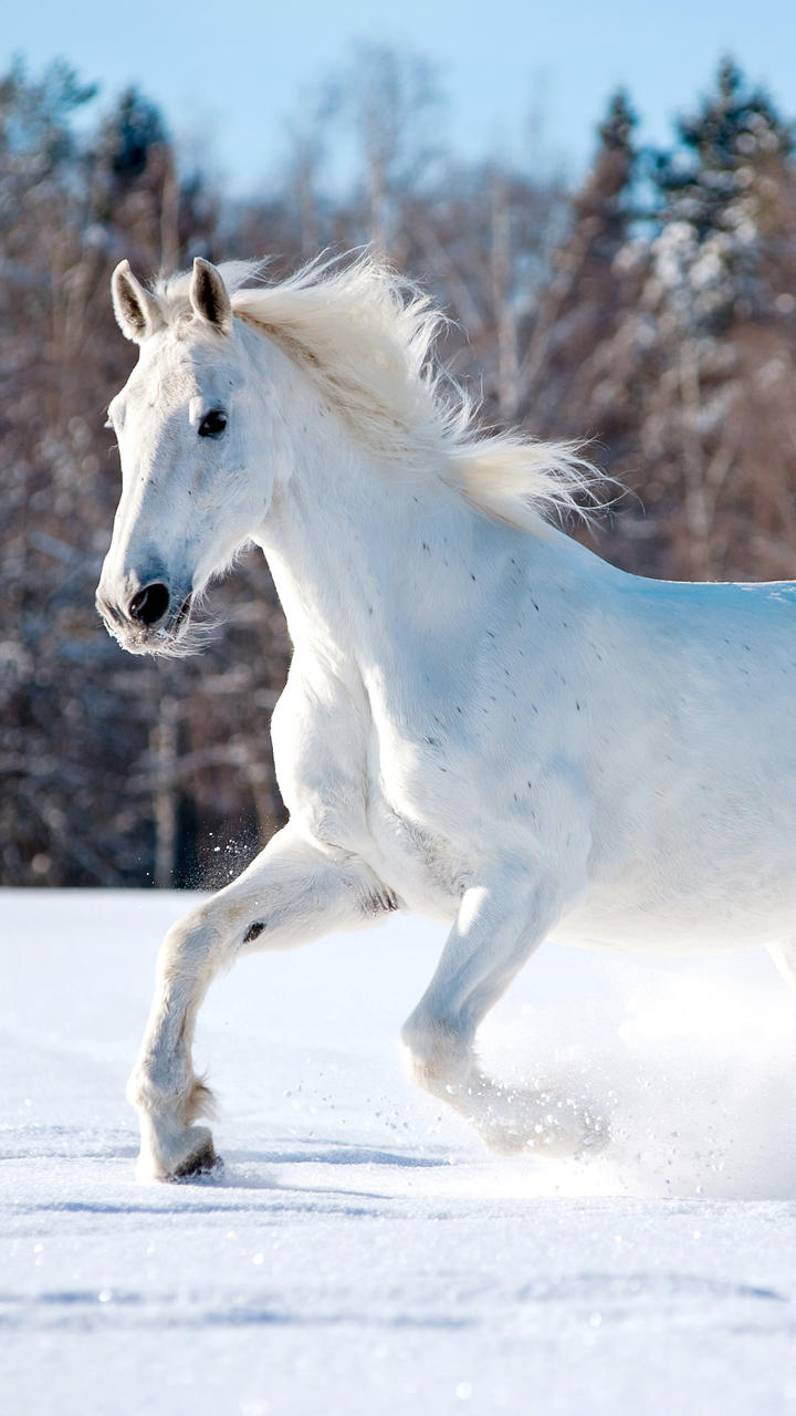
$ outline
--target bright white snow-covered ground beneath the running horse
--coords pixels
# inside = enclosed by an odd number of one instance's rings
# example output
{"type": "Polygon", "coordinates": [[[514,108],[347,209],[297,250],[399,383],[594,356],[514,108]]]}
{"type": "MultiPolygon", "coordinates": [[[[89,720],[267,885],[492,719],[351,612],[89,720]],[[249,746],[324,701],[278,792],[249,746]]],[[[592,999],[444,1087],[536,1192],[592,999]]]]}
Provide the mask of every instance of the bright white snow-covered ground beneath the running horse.
{"type": "Polygon", "coordinates": [[[248,959],[197,1058],[225,1168],[133,1181],[125,1079],[176,893],[0,893],[13,1416],[796,1413],[796,1008],[765,956],[547,946],[483,1035],[610,1143],[486,1154],[409,1087],[411,918],[248,959]]]}

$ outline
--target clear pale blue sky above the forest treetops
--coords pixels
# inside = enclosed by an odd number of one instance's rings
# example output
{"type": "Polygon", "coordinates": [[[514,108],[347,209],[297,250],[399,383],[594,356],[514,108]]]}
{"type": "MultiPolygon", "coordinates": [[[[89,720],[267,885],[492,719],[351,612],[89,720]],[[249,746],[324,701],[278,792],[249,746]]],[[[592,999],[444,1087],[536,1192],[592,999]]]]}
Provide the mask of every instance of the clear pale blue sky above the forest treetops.
{"type": "Polygon", "coordinates": [[[710,85],[731,52],[796,116],[793,0],[373,0],[290,4],[251,0],[137,0],[123,17],[99,0],[16,4],[3,58],[37,72],[64,57],[108,102],[137,82],[190,152],[207,152],[229,188],[265,190],[285,152],[285,125],[357,41],[422,54],[448,96],[445,132],[463,156],[508,153],[569,173],[586,163],[593,126],[616,85],[629,88],[646,139],[664,142],[671,116],[710,85]],[[531,142],[530,115],[542,127],[531,142]]]}

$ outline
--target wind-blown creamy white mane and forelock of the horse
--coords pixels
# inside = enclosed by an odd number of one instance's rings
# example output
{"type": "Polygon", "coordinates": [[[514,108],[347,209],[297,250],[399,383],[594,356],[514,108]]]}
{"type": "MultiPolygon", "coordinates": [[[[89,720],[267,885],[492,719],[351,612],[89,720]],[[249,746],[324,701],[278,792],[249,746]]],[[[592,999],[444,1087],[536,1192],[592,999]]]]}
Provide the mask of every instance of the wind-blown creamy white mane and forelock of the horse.
{"type": "MultiPolygon", "coordinates": [[[[541,517],[585,515],[595,504],[595,487],[608,479],[576,445],[476,428],[470,399],[435,357],[445,316],[373,256],[313,261],[275,285],[263,283],[263,262],[227,262],[220,270],[235,316],[303,367],[380,462],[436,473],[469,501],[531,531],[541,517]]],[[[188,290],[188,273],[156,287],[167,323],[190,316],[188,290]]]]}

